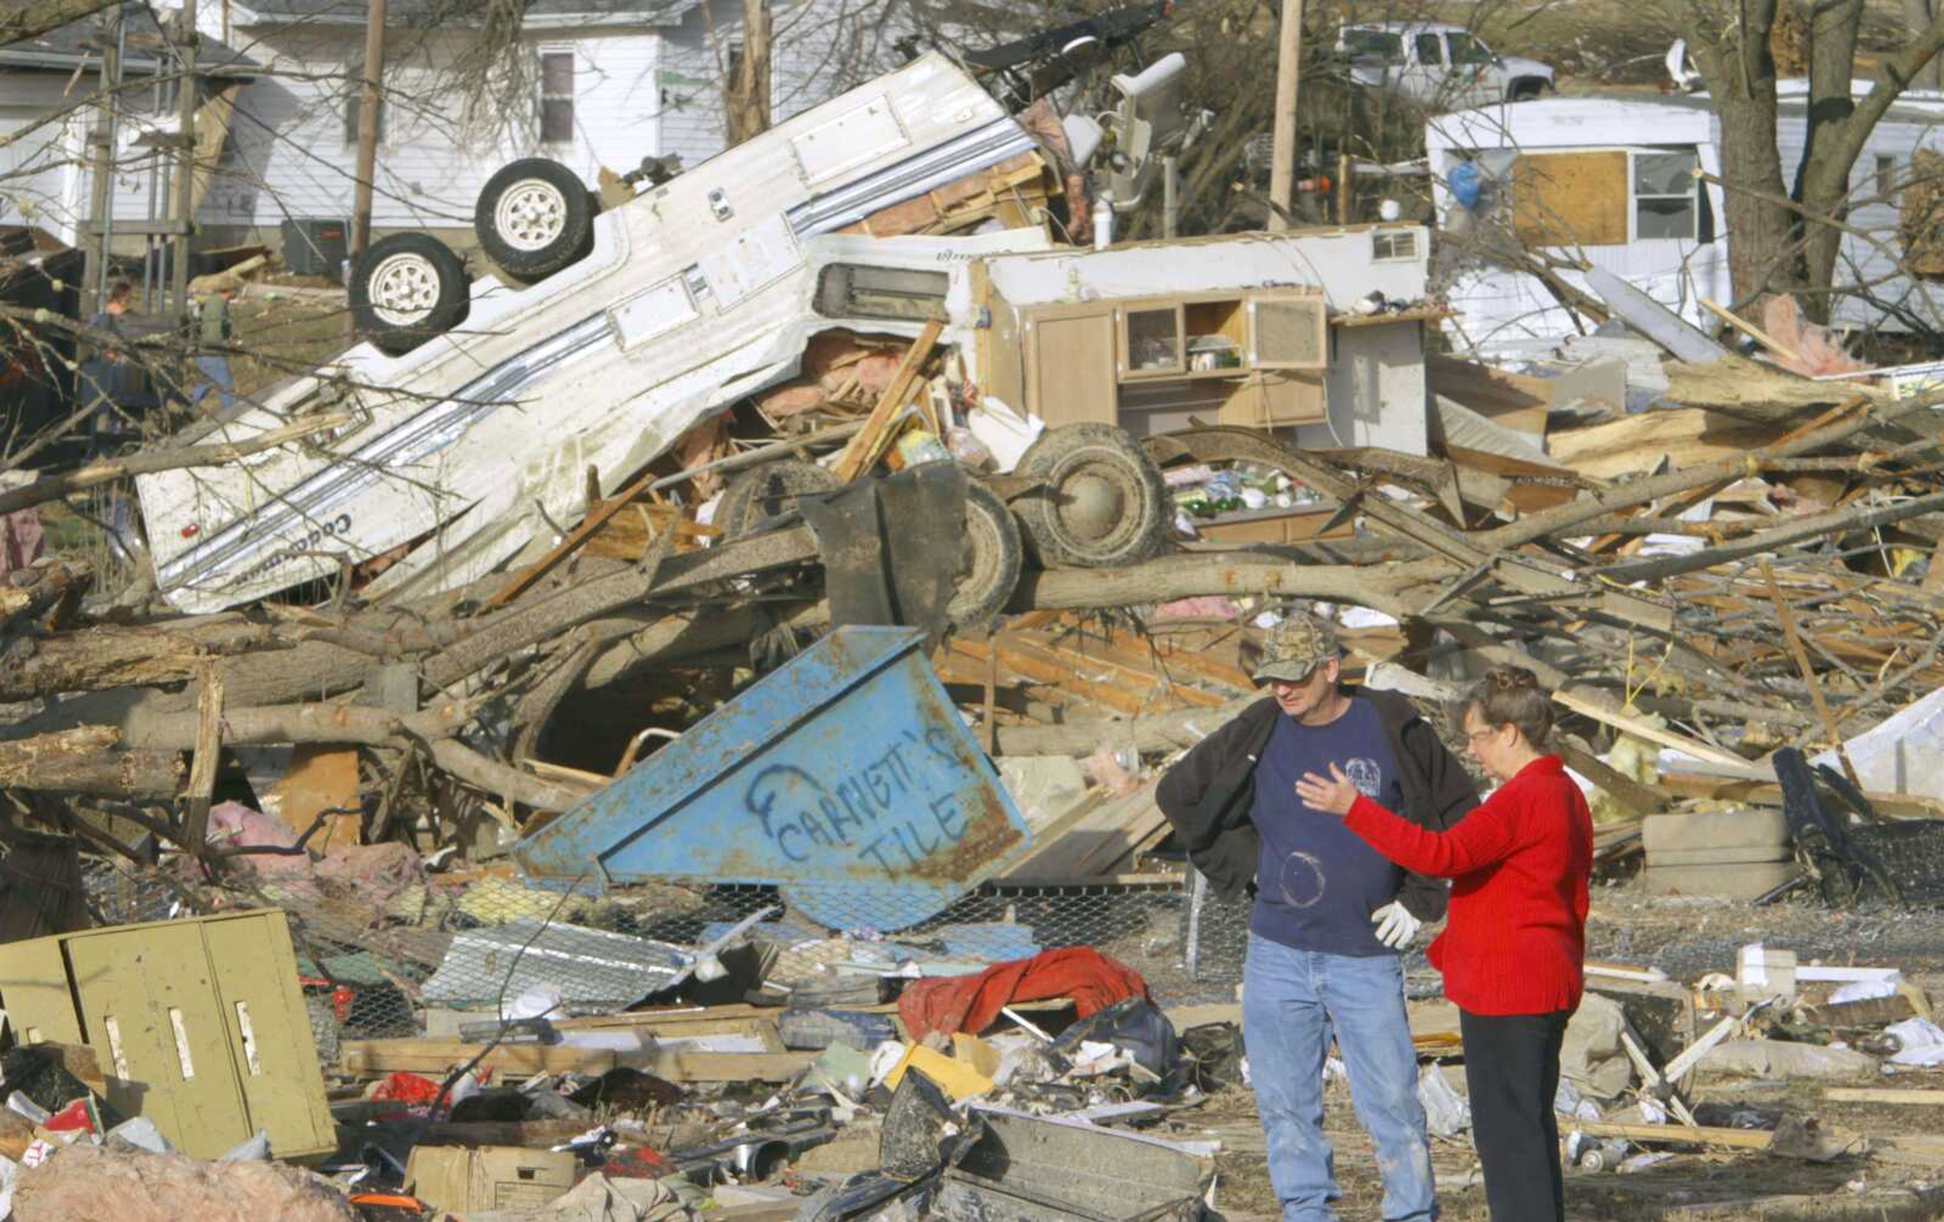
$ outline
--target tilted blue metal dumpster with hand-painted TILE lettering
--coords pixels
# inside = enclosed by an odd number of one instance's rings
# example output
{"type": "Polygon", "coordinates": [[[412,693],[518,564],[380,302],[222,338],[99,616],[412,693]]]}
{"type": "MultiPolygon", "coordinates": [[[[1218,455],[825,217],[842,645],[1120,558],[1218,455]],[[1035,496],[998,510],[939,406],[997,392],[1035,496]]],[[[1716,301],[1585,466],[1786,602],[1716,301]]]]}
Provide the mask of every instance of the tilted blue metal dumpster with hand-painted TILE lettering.
{"type": "Polygon", "coordinates": [[[838,628],[513,849],[535,880],[776,884],[904,929],[1026,847],[910,628],[838,628]]]}

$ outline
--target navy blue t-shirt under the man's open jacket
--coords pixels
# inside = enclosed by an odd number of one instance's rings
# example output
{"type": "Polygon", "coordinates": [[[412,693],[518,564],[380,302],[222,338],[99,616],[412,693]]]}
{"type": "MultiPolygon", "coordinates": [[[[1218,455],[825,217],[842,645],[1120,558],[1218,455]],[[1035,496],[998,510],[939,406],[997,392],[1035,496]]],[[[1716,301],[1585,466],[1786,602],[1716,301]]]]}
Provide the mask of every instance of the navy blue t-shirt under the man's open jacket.
{"type": "Polygon", "coordinates": [[[1339,816],[1310,810],[1297,797],[1302,773],[1328,777],[1330,764],[1341,767],[1359,793],[1402,812],[1398,762],[1371,701],[1353,696],[1341,717],[1320,727],[1277,717],[1256,762],[1250,818],[1262,835],[1262,851],[1248,927],[1297,950],[1396,954],[1376,940],[1371,913],[1398,898],[1404,870],[1345,828],[1339,816]]]}

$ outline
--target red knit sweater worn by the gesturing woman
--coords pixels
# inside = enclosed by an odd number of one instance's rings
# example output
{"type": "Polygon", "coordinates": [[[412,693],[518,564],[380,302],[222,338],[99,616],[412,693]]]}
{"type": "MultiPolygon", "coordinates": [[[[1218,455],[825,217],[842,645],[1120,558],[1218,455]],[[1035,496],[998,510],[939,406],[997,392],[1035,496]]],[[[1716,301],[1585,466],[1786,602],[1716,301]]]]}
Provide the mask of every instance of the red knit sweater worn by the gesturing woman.
{"type": "Polygon", "coordinates": [[[1429,956],[1460,1010],[1579,1008],[1592,814],[1559,756],[1522,767],[1450,832],[1427,832],[1365,797],[1345,822],[1406,870],[1454,880],[1429,956]]]}

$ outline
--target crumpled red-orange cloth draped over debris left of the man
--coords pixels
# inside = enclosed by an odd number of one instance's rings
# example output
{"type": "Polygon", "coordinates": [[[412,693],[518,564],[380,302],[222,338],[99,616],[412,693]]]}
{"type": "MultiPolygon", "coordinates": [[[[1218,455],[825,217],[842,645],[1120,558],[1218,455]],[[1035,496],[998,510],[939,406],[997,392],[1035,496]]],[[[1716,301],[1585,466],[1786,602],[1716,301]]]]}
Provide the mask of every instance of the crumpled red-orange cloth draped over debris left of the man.
{"type": "Polygon", "coordinates": [[[898,1018],[912,1039],[931,1032],[978,1035],[1001,1006],[1048,997],[1071,997],[1077,1016],[1087,1018],[1124,997],[1147,997],[1147,981],[1093,946],[1067,946],[993,964],[978,975],[912,981],[898,999],[898,1018]]]}

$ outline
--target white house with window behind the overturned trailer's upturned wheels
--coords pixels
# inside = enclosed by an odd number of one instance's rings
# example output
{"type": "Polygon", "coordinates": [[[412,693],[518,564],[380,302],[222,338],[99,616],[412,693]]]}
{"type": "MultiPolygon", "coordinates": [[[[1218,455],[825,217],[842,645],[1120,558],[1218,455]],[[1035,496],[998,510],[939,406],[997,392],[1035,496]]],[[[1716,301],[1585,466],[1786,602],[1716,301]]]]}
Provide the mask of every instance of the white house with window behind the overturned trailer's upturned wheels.
{"type": "MultiPolygon", "coordinates": [[[[214,6],[204,4],[200,12],[214,6]]],[[[517,56],[486,68],[484,33],[441,0],[391,0],[373,231],[470,241],[484,181],[515,157],[552,157],[593,187],[678,153],[723,150],[723,80],[743,52],[737,0],[531,0],[517,56]]],[[[776,6],[772,119],[781,120],[890,60],[879,6],[776,6]]],[[[467,6],[478,12],[478,6],[467,6]]],[[[364,0],[247,0],[229,39],[262,62],[237,103],[227,173],[200,221],[231,241],[274,241],[284,220],[352,212],[364,0]]]]}

